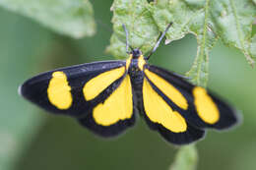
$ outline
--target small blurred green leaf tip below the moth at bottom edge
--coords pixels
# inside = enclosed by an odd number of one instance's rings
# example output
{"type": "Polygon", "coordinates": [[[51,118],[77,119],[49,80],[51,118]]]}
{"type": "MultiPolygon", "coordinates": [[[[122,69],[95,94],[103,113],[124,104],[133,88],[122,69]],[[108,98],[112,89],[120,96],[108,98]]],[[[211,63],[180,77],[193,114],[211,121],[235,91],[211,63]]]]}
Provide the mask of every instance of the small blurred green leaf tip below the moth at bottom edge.
{"type": "Polygon", "coordinates": [[[182,146],[175,157],[175,161],[169,170],[195,170],[198,161],[198,153],[194,144],[182,146]]]}

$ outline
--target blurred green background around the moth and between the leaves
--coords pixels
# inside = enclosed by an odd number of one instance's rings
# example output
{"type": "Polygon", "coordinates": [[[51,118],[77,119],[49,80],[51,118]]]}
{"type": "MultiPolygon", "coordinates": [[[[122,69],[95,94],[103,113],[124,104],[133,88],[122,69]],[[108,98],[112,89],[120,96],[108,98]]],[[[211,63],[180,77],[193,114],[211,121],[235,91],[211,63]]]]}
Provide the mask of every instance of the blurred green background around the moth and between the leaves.
{"type": "MultiPolygon", "coordinates": [[[[113,140],[102,140],[76,121],[50,115],[19,96],[25,80],[47,70],[109,60],[104,53],[111,32],[111,1],[92,1],[96,35],[74,40],[30,19],[0,9],[0,169],[168,169],[176,146],[162,141],[140,119],[113,140]],[[104,8],[102,8],[104,7],[104,8]]],[[[184,74],[196,55],[196,39],[187,35],[161,45],[150,63],[184,74]]],[[[220,41],[210,54],[208,86],[243,115],[242,124],[224,133],[209,131],[198,142],[199,170],[255,168],[256,70],[243,54],[220,41]]]]}

